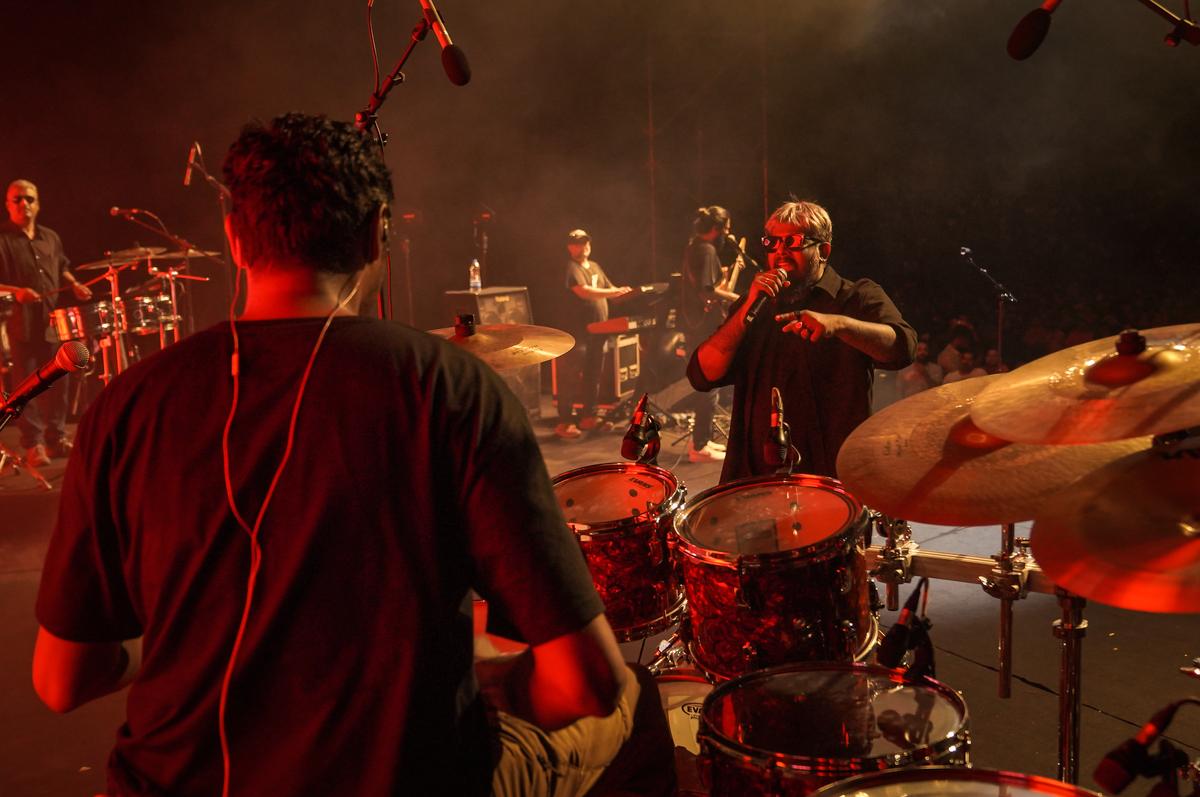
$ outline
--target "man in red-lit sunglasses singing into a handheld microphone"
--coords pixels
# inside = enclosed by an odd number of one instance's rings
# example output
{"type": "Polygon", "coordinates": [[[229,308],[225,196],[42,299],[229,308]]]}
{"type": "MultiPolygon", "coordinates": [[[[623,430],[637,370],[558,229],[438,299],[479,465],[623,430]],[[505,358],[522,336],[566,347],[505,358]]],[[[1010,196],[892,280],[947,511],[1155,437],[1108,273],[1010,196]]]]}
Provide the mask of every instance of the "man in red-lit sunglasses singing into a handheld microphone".
{"type": "Polygon", "coordinates": [[[836,475],[838,449],[871,408],[875,367],[912,362],[917,332],[871,280],[829,265],[833,221],[812,202],[780,205],[764,226],[769,270],[688,364],[697,390],[732,384],[733,413],[721,481],[766,475],[772,388],[784,400],[796,472],[836,475]],[[766,296],[761,312],[748,311],[766,296]]]}

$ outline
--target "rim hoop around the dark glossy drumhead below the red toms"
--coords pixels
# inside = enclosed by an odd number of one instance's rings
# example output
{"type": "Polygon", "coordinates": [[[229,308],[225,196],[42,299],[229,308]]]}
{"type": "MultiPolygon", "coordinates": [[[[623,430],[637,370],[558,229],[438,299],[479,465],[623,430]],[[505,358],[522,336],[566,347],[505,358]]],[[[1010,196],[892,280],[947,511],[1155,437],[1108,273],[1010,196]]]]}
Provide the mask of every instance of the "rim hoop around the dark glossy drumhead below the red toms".
{"type": "Polygon", "coordinates": [[[754,672],[748,672],[733,678],[732,681],[726,681],[725,683],[719,684],[712,693],[708,694],[707,697],[704,697],[704,707],[701,709],[700,737],[725,755],[742,760],[746,763],[757,765],[760,768],[781,769],[784,772],[796,771],[797,773],[808,774],[812,772],[838,773],[863,772],[864,769],[888,769],[907,767],[919,761],[929,761],[946,755],[947,753],[953,753],[959,747],[970,744],[968,729],[970,715],[966,701],[962,700],[962,695],[940,681],[935,681],[934,678],[907,678],[904,675],[904,670],[892,670],[888,667],[881,667],[876,664],[860,664],[857,661],[818,661],[814,664],[785,664],[778,667],[755,670],[754,672]],[[708,717],[712,714],[713,706],[726,694],[736,690],[744,683],[751,681],[763,681],[770,676],[788,672],[829,672],[832,670],[846,672],[859,671],[864,673],[881,675],[899,684],[919,684],[931,687],[934,691],[936,691],[940,696],[946,697],[955,706],[955,708],[959,709],[959,726],[954,730],[954,732],[947,735],[946,737],[930,742],[923,747],[912,748],[911,750],[847,759],[794,755],[791,753],[764,750],[751,744],[736,742],[710,730],[708,717]]]}

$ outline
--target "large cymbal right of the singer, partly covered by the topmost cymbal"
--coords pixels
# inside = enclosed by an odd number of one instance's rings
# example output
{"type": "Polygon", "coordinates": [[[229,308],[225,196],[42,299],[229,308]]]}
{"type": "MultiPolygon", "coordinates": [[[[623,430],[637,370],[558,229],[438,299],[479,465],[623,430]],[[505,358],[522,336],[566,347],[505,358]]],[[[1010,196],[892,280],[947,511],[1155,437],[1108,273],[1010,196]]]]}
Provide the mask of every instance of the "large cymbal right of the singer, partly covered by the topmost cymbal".
{"type": "Polygon", "coordinates": [[[1001,374],[924,390],[863,421],[838,453],[838,478],[872,509],[904,520],[984,526],[1031,520],[1060,490],[1146,448],[1150,438],[1099,445],[1028,445],[971,421],[976,396],[1001,374]]]}

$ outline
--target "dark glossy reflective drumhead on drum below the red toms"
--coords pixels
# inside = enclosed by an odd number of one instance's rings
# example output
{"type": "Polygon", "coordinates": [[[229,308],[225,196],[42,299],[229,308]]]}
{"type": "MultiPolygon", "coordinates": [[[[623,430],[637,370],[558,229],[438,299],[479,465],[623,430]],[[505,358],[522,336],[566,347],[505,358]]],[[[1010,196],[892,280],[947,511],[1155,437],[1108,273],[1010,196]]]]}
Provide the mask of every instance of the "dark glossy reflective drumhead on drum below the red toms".
{"type": "Polygon", "coordinates": [[[776,667],[720,687],[703,720],[718,738],[770,755],[906,757],[956,738],[966,707],[941,684],[883,667],[776,667]]]}

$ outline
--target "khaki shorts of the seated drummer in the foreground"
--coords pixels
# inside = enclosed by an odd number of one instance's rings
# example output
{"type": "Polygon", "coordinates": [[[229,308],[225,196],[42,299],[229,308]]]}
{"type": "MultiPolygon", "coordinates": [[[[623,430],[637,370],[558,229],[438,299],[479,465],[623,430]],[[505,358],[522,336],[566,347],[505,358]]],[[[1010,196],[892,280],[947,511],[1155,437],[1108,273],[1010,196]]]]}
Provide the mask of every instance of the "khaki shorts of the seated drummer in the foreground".
{"type": "Polygon", "coordinates": [[[617,708],[607,717],[584,717],[557,731],[496,714],[500,759],[492,774],[496,797],[583,795],[604,774],[634,731],[641,687],[625,678],[617,708]]]}

